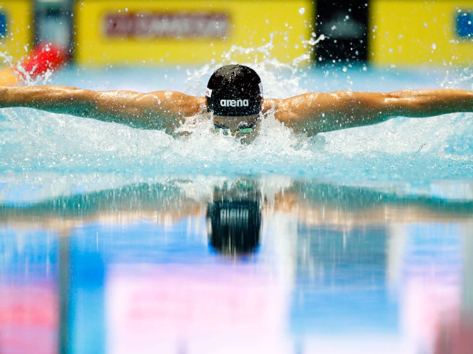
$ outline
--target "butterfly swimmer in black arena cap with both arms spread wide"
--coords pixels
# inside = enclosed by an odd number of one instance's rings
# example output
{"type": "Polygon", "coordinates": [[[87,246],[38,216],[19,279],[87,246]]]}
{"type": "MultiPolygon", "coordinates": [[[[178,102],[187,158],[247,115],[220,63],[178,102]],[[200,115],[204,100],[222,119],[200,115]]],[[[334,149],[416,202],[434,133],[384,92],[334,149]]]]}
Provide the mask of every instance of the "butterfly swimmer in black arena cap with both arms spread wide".
{"type": "Polygon", "coordinates": [[[473,91],[337,91],[264,98],[261,79],[244,65],[225,65],[210,77],[204,97],[180,92],[90,91],[66,86],[0,87],[0,108],[29,107],[172,133],[185,118],[212,113],[215,131],[254,135],[269,110],[295,133],[368,126],[394,117],[423,118],[473,112],[473,91]]]}

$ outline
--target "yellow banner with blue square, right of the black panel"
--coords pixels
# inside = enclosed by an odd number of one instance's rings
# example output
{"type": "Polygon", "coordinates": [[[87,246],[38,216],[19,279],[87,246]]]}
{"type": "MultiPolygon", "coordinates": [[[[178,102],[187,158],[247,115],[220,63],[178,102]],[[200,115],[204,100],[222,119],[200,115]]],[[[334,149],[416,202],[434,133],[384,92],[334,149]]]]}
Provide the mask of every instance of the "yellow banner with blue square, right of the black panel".
{"type": "Polygon", "coordinates": [[[373,0],[369,19],[374,64],[473,62],[473,1],[373,0]]]}

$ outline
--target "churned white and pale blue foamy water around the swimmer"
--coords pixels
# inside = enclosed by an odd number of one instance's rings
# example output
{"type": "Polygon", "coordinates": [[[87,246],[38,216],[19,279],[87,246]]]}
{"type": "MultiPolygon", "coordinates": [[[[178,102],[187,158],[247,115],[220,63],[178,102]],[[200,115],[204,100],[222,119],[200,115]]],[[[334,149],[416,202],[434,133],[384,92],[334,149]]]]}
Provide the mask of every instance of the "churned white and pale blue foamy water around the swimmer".
{"type": "MultiPolygon", "coordinates": [[[[417,79],[410,72],[382,71],[363,65],[312,68],[302,64],[308,57],[282,64],[270,58],[270,47],[267,43],[261,48],[247,49],[249,56],[263,55],[264,59],[242,63],[261,75],[266,97],[340,89],[387,91],[388,87],[394,91],[411,86],[417,79]]],[[[173,85],[177,84],[180,91],[202,96],[211,72],[231,63],[232,53],[242,50],[245,49],[234,47],[223,55],[221,63],[188,69],[187,80],[173,85]]],[[[126,81],[127,74],[119,70],[110,69],[112,78],[126,81]]],[[[69,69],[63,78],[72,86],[108,89],[103,87],[104,75],[92,82],[92,71],[90,84],[81,84],[77,78],[74,82],[74,75],[83,74],[69,69]],[[101,85],[97,85],[101,79],[101,85]]],[[[182,69],[163,75],[163,80],[153,84],[153,90],[176,89],[166,86],[168,75],[173,74],[182,75],[182,69]]],[[[139,91],[149,91],[150,69],[143,70],[138,79],[136,72],[133,75],[133,88],[141,86],[143,90],[139,91]]],[[[443,82],[437,82],[438,74],[429,77],[425,72],[420,76],[427,81],[413,88],[429,84],[432,87],[435,82],[436,87],[473,89],[470,69],[449,72],[443,76],[443,82]]],[[[175,137],[163,131],[133,129],[69,115],[6,109],[0,112],[0,180],[10,189],[12,185],[26,184],[46,188],[52,194],[80,191],[86,185],[109,188],[169,175],[278,174],[344,184],[427,186],[438,180],[471,180],[472,122],[471,113],[427,119],[396,118],[376,126],[307,137],[284,127],[270,111],[261,118],[255,141],[245,144],[234,137],[212,133],[212,123],[206,114],[193,117],[180,127],[179,130],[191,134],[175,137]]]]}

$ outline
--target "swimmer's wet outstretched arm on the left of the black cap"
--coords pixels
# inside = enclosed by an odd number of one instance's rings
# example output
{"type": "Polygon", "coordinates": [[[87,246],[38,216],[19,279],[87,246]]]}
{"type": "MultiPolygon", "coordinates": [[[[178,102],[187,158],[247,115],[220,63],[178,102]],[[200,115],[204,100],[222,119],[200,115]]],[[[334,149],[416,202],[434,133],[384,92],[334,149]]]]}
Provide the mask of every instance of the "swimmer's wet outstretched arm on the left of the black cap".
{"type": "Polygon", "coordinates": [[[144,129],[173,130],[197,114],[204,97],[173,91],[90,91],[66,86],[0,87],[0,108],[30,107],[144,129]]]}

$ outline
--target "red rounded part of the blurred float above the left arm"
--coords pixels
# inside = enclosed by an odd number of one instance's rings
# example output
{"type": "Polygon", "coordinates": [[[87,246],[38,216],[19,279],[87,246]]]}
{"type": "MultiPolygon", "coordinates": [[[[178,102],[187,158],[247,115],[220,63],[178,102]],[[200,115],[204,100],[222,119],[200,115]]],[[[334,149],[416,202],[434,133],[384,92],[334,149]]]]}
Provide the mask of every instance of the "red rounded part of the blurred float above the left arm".
{"type": "MultiPolygon", "coordinates": [[[[21,63],[24,71],[30,74],[32,79],[44,74],[47,70],[53,70],[64,64],[66,54],[64,50],[55,44],[38,44],[33,52],[21,63]]],[[[23,77],[25,74],[20,72],[23,77]]]]}

